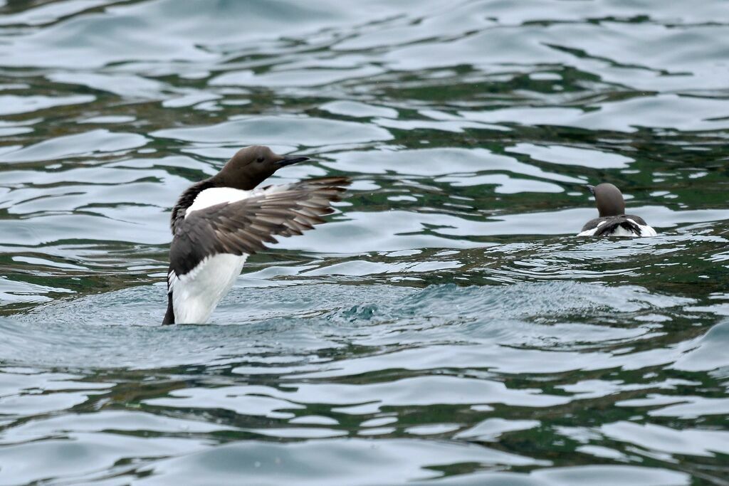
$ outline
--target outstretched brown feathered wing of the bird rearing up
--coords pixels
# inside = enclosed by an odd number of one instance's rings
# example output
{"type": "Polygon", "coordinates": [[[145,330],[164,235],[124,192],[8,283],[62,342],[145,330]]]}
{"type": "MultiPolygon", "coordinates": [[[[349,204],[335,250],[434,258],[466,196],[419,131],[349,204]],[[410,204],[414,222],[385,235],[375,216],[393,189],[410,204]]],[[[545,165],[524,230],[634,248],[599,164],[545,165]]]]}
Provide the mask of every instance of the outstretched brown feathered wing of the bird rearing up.
{"type": "Polygon", "coordinates": [[[345,177],[311,179],[262,189],[235,203],[193,211],[178,219],[170,248],[171,270],[184,275],[206,256],[253,254],[276,243],[274,236],[300,235],[323,223],[332,201],[340,200],[345,177]]]}

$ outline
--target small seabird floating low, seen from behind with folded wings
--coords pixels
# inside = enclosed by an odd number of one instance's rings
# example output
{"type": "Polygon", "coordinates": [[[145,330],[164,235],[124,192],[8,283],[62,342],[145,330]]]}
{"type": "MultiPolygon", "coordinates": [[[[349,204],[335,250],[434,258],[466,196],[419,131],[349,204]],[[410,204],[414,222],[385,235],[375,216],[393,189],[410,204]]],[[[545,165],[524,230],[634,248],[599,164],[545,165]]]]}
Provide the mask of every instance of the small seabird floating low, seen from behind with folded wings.
{"type": "Polygon", "coordinates": [[[655,236],[658,233],[640,216],[625,214],[625,200],[612,184],[588,186],[600,215],[590,219],[577,236],[655,236]]]}

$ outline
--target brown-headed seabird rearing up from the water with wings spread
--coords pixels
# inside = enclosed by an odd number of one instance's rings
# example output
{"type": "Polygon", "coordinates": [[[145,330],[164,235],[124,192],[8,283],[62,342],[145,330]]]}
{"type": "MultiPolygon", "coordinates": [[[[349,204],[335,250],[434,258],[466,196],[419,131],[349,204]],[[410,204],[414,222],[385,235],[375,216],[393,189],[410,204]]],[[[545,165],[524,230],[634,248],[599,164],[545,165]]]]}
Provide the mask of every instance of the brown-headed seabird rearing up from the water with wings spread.
{"type": "Polygon", "coordinates": [[[286,165],[308,160],[267,146],[239,150],[222,170],[193,184],[172,210],[167,313],[162,324],[203,324],[241,274],[249,255],[300,235],[332,213],[346,177],[310,179],[256,189],[286,165]]]}

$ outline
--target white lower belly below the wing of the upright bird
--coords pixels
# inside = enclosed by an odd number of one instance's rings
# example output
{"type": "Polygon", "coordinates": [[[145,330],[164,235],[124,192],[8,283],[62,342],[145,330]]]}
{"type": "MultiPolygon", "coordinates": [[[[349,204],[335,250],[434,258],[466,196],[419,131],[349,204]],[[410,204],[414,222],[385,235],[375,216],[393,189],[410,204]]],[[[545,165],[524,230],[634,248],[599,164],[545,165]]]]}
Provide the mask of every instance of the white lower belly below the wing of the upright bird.
{"type": "Polygon", "coordinates": [[[182,277],[171,271],[168,279],[175,324],[205,324],[241,275],[247,258],[247,254],[217,254],[203,259],[182,277]]]}

